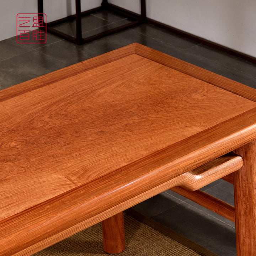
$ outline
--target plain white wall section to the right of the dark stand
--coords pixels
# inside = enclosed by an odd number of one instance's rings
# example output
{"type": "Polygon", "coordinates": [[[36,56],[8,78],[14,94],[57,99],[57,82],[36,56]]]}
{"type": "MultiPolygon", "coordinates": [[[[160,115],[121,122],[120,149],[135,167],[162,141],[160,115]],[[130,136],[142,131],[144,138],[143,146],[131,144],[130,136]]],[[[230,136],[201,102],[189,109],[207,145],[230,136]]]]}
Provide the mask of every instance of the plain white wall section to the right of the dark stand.
{"type": "Polygon", "coordinates": [[[255,0],[147,0],[147,16],[256,57],[255,0]]]}

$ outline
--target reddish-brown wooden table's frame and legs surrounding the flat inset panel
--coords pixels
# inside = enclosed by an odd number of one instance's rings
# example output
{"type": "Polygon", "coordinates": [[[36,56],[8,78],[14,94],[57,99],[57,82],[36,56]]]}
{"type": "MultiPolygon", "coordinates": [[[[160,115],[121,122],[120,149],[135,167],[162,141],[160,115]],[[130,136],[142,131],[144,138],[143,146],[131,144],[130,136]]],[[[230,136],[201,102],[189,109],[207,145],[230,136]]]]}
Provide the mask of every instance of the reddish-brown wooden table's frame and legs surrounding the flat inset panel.
{"type": "MultiPolygon", "coordinates": [[[[0,94],[0,102],[131,54],[256,102],[256,91],[250,87],[137,43],[5,89],[0,94]]],[[[157,154],[132,162],[1,221],[0,255],[32,255],[102,221],[105,249],[108,252],[112,249],[113,252],[120,252],[124,249],[123,210],[168,188],[192,186],[191,190],[196,190],[197,185],[201,187],[234,171],[237,255],[255,255],[256,108],[198,134],[176,143],[175,148],[164,148],[157,154]],[[225,155],[231,151],[236,154],[225,155]],[[211,161],[213,166],[217,166],[215,169],[200,169],[200,166],[208,165],[211,161]],[[225,166],[219,167],[223,163],[225,166]],[[191,175],[200,175],[199,181],[203,182],[198,184],[191,175]],[[120,241],[111,241],[115,234],[120,237],[120,241]]]]}

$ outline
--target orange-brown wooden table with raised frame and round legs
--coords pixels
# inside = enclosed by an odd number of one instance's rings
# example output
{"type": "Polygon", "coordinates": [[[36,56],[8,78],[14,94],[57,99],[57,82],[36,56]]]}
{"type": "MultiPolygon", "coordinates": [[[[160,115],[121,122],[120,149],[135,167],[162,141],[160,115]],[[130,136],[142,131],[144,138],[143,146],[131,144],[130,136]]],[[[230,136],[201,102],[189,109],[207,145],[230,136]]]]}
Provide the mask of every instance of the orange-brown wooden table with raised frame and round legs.
{"type": "Polygon", "coordinates": [[[0,91],[0,255],[32,255],[105,219],[105,249],[121,251],[120,212],[242,165],[237,255],[255,255],[255,101],[250,87],[137,43],[0,91]],[[199,167],[234,150],[242,158],[226,168],[199,167]]]}

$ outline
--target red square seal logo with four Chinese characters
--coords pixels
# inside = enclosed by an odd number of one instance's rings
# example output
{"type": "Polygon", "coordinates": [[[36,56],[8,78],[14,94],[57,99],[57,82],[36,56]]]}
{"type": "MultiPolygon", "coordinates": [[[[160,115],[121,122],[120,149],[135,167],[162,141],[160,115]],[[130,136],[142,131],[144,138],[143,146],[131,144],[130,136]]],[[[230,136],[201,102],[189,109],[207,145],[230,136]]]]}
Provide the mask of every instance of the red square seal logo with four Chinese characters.
{"type": "Polygon", "coordinates": [[[46,43],[46,14],[17,14],[17,42],[46,43]]]}

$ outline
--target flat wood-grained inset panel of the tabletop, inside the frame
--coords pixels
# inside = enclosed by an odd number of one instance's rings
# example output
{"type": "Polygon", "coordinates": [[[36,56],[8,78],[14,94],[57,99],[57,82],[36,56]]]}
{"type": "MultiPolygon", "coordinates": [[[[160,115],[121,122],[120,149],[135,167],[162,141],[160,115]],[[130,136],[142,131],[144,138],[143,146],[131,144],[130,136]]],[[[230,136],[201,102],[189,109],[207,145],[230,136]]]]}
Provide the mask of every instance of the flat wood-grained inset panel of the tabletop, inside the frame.
{"type": "Polygon", "coordinates": [[[0,220],[256,108],[135,53],[63,73],[0,101],[0,220]]]}

